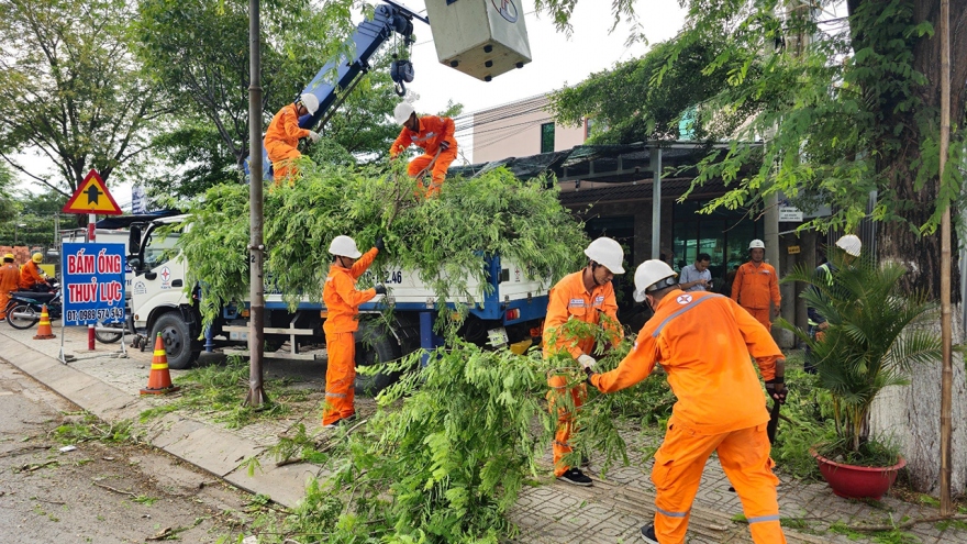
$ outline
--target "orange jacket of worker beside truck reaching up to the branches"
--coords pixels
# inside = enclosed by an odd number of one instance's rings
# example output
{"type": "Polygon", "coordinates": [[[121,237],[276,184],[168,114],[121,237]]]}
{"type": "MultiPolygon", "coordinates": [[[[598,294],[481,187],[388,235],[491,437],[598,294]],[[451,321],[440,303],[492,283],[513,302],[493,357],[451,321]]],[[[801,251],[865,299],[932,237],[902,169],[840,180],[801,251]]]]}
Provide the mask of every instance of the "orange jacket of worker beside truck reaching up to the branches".
{"type": "Polygon", "coordinates": [[[376,289],[356,290],[356,280],[373,264],[379,249],[369,249],[352,268],[343,268],[333,264],[322,288],[322,301],[325,302],[327,315],[322,330],[330,334],[355,332],[359,329],[359,304],[373,300],[376,289]]]}

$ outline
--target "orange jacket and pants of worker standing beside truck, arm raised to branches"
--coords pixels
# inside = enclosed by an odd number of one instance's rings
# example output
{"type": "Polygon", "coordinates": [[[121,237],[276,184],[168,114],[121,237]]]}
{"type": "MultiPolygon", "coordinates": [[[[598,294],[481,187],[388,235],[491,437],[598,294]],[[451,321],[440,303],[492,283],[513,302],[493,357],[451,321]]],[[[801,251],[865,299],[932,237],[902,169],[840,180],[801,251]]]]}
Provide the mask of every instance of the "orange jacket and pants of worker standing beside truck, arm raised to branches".
{"type": "Polygon", "coordinates": [[[356,280],[369,268],[377,248],[366,252],[352,268],[333,264],[322,288],[322,300],[329,312],[322,330],[325,331],[325,349],[329,367],[325,370],[325,408],[322,424],[329,425],[356,413],[356,340],[359,329],[359,304],[376,297],[376,289],[356,290],[356,280]]]}

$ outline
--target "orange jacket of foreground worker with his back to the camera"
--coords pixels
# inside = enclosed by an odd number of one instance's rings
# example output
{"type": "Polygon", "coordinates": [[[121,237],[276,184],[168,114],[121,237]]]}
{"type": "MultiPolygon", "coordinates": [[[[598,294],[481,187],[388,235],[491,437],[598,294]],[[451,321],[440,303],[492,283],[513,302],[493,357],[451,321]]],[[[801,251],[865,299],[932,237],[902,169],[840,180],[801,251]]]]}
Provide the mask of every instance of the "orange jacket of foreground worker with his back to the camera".
{"type": "Polygon", "coordinates": [[[748,429],[769,420],[766,399],[749,360],[763,378],[776,377],[782,352],[769,331],[722,295],[670,291],[613,370],[591,376],[604,392],[645,379],[656,363],[678,401],[673,417],[702,434],[748,429]]]}

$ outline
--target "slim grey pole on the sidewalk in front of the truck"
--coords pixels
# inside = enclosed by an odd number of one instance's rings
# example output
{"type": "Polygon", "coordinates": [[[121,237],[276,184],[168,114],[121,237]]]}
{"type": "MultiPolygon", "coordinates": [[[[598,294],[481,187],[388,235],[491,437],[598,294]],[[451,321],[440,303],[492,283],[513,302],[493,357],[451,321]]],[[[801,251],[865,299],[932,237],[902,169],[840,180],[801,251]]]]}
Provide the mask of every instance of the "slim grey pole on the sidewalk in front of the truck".
{"type": "Polygon", "coordinates": [[[248,397],[245,406],[260,408],[268,402],[262,375],[265,349],[265,244],[263,244],[262,201],[262,41],[258,20],[259,0],[248,0],[248,397]]]}

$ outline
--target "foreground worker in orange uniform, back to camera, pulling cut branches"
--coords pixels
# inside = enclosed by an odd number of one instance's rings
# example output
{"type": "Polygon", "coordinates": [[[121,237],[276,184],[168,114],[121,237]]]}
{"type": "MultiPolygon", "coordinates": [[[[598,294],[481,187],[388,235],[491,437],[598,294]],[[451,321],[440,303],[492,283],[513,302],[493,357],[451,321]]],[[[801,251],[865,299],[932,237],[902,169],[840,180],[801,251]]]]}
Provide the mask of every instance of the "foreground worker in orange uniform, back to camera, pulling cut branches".
{"type": "Polygon", "coordinates": [[[756,544],[786,542],[769,458],[762,386],[749,355],[766,380],[767,392],[785,402],[785,360],[769,331],[734,301],[711,292],[685,292],[675,270],[657,259],[635,270],[634,299],[647,301],[655,315],[616,368],[588,381],[613,392],[644,380],[656,363],[678,401],[665,441],[655,453],[655,522],[642,528],[645,542],[680,544],[689,511],[712,452],[732,482],[756,544]]]}

